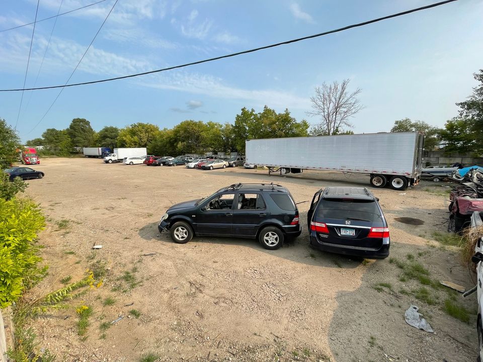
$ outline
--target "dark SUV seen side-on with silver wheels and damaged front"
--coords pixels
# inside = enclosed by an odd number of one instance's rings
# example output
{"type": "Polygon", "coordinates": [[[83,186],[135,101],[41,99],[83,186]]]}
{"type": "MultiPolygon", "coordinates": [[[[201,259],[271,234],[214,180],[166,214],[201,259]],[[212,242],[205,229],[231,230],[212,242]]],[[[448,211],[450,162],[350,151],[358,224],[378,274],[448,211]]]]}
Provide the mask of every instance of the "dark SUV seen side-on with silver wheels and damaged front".
{"type": "Polygon", "coordinates": [[[173,241],[180,244],[194,235],[231,236],[258,238],[269,250],[301,232],[292,195],[273,183],[233,184],[207,198],[173,205],[157,228],[170,230],[173,241]]]}

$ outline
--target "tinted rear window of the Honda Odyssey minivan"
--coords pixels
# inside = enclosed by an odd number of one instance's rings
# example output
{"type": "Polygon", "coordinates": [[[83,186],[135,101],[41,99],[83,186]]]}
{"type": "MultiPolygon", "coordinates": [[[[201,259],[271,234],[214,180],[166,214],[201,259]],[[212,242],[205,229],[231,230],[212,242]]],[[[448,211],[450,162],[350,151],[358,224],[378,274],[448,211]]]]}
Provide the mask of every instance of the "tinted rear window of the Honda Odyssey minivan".
{"type": "Polygon", "coordinates": [[[318,218],[361,219],[380,221],[379,208],[374,200],[322,199],[318,204],[318,218]]]}

